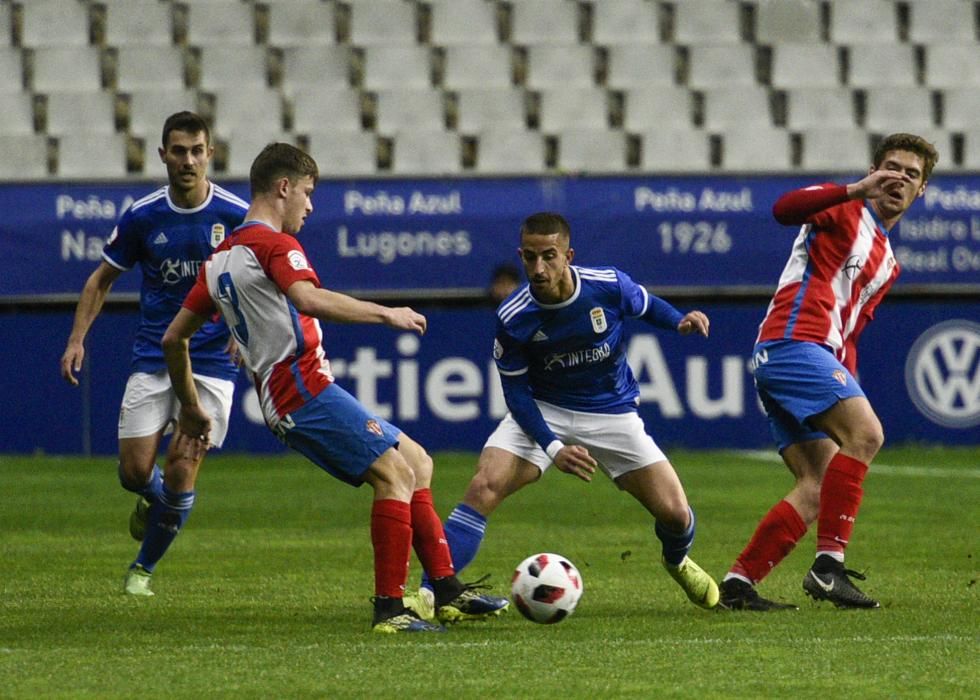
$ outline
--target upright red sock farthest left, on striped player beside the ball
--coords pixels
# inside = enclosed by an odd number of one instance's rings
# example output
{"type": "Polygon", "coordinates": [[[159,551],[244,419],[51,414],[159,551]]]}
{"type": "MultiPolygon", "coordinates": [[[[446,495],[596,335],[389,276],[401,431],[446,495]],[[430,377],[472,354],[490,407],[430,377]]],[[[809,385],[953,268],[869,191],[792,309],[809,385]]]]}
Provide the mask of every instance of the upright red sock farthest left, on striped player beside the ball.
{"type": "Polygon", "coordinates": [[[401,598],[412,553],[412,512],[407,503],[390,498],[371,507],[374,545],[374,594],[401,598]]]}

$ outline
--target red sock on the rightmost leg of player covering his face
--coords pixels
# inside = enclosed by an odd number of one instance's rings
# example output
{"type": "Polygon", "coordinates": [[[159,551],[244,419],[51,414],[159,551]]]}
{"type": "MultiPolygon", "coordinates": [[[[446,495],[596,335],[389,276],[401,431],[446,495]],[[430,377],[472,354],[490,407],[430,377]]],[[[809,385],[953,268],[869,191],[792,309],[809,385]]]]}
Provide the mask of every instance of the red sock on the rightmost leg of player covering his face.
{"type": "Polygon", "coordinates": [[[867,473],[867,464],[840,452],[830,460],[820,487],[817,552],[844,553],[861,506],[861,483],[867,473]]]}

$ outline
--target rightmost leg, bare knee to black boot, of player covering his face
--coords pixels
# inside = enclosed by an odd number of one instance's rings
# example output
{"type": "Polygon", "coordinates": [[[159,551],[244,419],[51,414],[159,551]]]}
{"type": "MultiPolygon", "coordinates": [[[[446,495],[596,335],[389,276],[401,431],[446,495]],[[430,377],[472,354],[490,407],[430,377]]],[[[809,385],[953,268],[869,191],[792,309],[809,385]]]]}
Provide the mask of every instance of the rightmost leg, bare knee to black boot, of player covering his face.
{"type": "Polygon", "coordinates": [[[864,396],[844,399],[810,422],[840,449],[828,463],[820,488],[817,556],[804,578],[804,590],[838,607],[876,608],[878,601],[851,582],[850,577],[863,580],[864,576],[844,568],[844,550],[861,506],[868,465],[884,442],[881,423],[864,396]]]}

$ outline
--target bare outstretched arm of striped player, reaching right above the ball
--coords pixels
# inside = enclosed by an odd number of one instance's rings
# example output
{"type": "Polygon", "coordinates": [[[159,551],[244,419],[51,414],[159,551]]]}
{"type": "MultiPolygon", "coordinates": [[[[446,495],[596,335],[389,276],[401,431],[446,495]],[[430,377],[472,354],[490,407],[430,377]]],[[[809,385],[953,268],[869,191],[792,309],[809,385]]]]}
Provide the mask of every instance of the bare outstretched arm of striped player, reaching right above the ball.
{"type": "Polygon", "coordinates": [[[389,307],[317,287],[300,280],[286,295],[301,314],[336,323],[382,323],[392,328],[425,333],[426,319],[407,306],[389,307]]]}

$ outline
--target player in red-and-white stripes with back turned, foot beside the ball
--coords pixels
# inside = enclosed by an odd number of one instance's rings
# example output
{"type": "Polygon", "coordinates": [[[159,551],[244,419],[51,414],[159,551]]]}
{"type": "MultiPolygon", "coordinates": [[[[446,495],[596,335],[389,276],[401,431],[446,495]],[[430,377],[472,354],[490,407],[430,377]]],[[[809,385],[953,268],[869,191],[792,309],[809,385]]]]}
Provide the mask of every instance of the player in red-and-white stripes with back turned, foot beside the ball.
{"type": "Polygon", "coordinates": [[[432,502],[432,459],[333,381],[320,345],[320,319],[418,333],[425,332],[426,320],[408,307],[381,306],[320,286],[296,239],[313,211],[318,176],[316,162],[285,143],[266,146],[252,164],[245,222],[201,268],[163,336],[181,403],[177,445],[191,454],[207,446],[211,417],[191,381],[188,346],[219,311],[252,373],[270,429],[332,476],[374,489],[374,631],[442,632],[439,622],[496,616],[507,608],[506,598],[484,595],[456,578],[432,502]],[[403,604],[413,548],[436,587],[438,622],[419,618],[403,604]]]}

